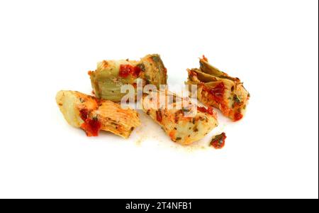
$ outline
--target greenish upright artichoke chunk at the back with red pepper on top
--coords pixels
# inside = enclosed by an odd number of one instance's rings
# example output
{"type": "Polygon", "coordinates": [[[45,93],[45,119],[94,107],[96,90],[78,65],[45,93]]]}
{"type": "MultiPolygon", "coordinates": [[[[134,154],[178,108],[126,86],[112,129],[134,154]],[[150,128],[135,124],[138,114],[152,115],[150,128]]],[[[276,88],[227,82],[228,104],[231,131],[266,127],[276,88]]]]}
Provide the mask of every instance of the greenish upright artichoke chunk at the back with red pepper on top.
{"type": "Polygon", "coordinates": [[[159,55],[146,55],[140,61],[135,60],[103,60],[96,71],[89,72],[91,84],[96,97],[112,102],[121,102],[125,93],[121,93],[124,84],[137,85],[137,79],[143,85],[167,84],[167,69],[159,55]]]}

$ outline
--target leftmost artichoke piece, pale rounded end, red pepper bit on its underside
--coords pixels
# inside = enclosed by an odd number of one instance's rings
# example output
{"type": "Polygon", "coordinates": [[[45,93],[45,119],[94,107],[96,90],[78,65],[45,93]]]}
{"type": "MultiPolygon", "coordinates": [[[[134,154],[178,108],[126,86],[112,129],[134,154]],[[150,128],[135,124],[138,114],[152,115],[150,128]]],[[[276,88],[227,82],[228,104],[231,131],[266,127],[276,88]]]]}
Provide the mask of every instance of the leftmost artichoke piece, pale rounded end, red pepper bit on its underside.
{"type": "Polygon", "coordinates": [[[103,130],[128,138],[133,129],[140,126],[137,111],[121,109],[111,101],[74,91],[58,92],[56,101],[67,122],[83,129],[87,136],[99,136],[103,130]]]}

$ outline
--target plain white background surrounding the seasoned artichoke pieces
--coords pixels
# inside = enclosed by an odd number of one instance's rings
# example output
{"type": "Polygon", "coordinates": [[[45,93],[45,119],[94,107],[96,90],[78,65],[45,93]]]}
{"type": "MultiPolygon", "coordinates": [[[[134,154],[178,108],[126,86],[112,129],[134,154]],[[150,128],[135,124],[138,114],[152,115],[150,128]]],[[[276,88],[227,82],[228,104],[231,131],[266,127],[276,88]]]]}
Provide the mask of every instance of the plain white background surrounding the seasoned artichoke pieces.
{"type": "Polygon", "coordinates": [[[1,198],[318,198],[318,1],[1,1],[0,38],[1,198]],[[142,114],[127,141],[67,124],[56,92],[148,53],[170,84],[205,54],[245,82],[247,115],[190,147],[142,114]]]}

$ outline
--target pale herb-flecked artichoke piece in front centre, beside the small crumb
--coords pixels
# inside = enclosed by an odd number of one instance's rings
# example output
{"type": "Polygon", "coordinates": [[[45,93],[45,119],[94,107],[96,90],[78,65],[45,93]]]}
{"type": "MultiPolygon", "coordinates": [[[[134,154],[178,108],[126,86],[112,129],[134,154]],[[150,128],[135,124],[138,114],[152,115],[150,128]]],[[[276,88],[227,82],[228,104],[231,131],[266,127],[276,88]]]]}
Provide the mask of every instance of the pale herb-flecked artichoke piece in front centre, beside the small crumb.
{"type": "Polygon", "coordinates": [[[158,104],[157,101],[160,98],[157,98],[159,97],[157,92],[144,94],[142,107],[147,115],[162,126],[172,141],[181,145],[189,145],[201,140],[218,126],[217,116],[212,107],[208,109],[197,107],[191,102],[184,104],[181,103],[184,101],[177,97],[169,99],[169,95],[166,94],[166,104],[158,104]]]}

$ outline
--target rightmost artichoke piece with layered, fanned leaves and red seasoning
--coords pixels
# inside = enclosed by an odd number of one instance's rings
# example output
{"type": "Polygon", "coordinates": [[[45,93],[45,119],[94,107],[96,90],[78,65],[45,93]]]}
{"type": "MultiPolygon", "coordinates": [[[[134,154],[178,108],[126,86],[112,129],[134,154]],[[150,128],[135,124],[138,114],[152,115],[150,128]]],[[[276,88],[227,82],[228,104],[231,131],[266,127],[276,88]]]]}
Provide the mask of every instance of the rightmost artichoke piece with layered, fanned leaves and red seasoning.
{"type": "Polygon", "coordinates": [[[239,121],[245,114],[250,99],[239,78],[230,77],[200,59],[200,69],[191,69],[186,84],[197,84],[197,98],[208,107],[216,107],[233,121],[239,121]]]}

